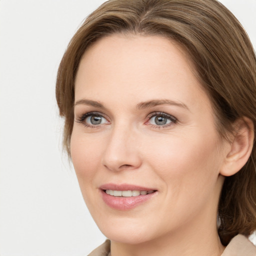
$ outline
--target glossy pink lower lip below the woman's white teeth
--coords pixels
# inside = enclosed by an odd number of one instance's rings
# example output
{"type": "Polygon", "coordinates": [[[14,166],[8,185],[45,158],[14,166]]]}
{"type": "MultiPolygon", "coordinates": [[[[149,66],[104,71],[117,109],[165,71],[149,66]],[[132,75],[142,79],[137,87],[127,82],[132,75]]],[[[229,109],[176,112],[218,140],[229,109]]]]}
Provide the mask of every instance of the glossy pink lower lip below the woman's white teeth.
{"type": "Polygon", "coordinates": [[[154,195],[156,195],[157,191],[145,194],[145,195],[137,195],[137,196],[113,196],[110,194],[105,193],[104,190],[100,190],[102,194],[103,201],[111,208],[117,209],[117,210],[129,210],[132,209],[139,204],[144,203],[145,201],[152,198],[154,195]]]}

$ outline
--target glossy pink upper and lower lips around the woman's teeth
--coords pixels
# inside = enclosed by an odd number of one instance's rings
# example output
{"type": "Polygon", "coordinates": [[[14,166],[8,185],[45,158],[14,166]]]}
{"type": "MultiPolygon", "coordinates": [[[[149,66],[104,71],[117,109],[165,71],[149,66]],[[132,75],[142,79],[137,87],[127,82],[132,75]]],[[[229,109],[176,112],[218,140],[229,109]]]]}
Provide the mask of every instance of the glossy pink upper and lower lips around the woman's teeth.
{"type": "Polygon", "coordinates": [[[144,203],[145,201],[152,198],[154,195],[157,194],[157,191],[153,188],[148,187],[142,187],[137,185],[131,185],[131,184],[114,184],[114,183],[108,183],[101,185],[100,192],[102,195],[103,201],[111,208],[117,209],[117,210],[129,210],[132,209],[139,204],[144,203]],[[140,190],[140,191],[150,191],[154,190],[153,193],[145,194],[145,195],[138,195],[138,196],[113,196],[105,193],[106,189],[111,190],[140,190]]]}

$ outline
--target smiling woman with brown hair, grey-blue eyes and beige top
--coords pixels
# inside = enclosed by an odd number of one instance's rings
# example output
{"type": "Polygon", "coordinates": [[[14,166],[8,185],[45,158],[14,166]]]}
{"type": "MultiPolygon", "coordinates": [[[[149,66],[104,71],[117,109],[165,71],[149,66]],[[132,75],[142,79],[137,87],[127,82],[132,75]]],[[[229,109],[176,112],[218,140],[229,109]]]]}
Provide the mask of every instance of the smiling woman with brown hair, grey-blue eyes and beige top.
{"type": "Polygon", "coordinates": [[[256,255],[256,59],[215,0],[110,0],[61,60],[56,98],[90,255],[256,255]]]}

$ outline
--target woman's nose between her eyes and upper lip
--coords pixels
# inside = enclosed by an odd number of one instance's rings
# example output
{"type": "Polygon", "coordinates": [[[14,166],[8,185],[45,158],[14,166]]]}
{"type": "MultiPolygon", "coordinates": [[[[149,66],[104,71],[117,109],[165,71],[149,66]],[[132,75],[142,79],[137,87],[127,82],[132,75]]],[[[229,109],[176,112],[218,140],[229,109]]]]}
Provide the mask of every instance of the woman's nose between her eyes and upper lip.
{"type": "Polygon", "coordinates": [[[137,138],[138,134],[127,127],[114,127],[107,139],[102,164],[112,171],[138,168],[141,157],[137,138]]]}

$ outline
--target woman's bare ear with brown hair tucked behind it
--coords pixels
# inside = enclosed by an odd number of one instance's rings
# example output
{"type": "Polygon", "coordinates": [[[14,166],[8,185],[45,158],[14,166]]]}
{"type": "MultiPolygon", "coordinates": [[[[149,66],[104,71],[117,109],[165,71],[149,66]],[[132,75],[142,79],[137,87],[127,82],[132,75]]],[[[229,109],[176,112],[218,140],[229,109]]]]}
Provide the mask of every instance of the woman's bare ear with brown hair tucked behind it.
{"type": "Polygon", "coordinates": [[[247,162],[254,140],[254,125],[251,119],[242,117],[234,122],[234,134],[228,146],[220,174],[231,176],[247,162]]]}

